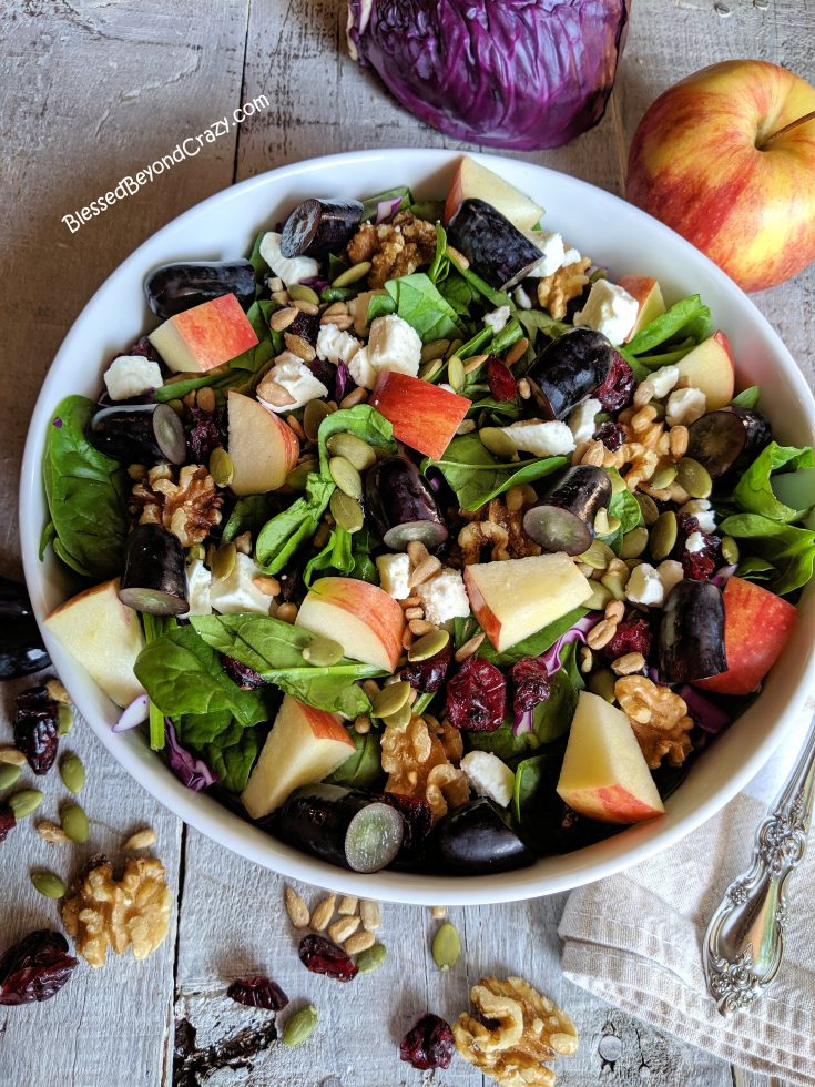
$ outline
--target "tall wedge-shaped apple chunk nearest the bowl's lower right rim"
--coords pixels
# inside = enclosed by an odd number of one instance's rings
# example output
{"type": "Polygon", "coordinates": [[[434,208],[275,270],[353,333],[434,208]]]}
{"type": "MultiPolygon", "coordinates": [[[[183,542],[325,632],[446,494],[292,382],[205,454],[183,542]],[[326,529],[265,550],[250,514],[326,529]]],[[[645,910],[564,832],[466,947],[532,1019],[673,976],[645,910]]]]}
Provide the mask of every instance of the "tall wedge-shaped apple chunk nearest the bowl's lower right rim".
{"type": "Polygon", "coordinates": [[[588,691],[578,699],[558,795],[602,823],[639,823],[665,811],[629,719],[588,691]]]}

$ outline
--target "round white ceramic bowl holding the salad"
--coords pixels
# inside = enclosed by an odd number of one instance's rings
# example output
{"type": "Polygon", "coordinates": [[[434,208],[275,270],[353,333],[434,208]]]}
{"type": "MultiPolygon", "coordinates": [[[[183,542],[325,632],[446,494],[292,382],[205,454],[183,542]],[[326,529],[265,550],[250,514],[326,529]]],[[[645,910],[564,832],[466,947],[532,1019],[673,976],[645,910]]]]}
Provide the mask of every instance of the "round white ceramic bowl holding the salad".
{"type": "MultiPolygon", "coordinates": [[[[787,443],[815,440],[815,403],[793,358],[745,294],[706,257],[668,227],[615,196],[531,163],[479,155],[547,209],[546,222],[612,276],[659,278],[669,301],[701,293],[738,359],[738,387],[762,385],[762,408],[787,443]]],[[[459,154],[448,151],[371,151],[330,155],[253,177],[204,201],[141,245],[99,288],[65,337],[34,409],[22,468],[20,530],[26,578],[39,619],[74,589],[67,571],[37,550],[45,518],[40,478],[45,430],[54,405],[69,393],[95,397],[104,359],[151,327],[142,281],[167,261],[223,260],[247,252],[256,233],[314,194],[360,196],[408,184],[440,196],[459,154]]],[[[115,214],[112,212],[111,214],[115,214]]],[[[141,735],[114,734],[119,710],[43,630],[54,667],[77,705],[115,759],[157,800],[210,837],[284,875],[352,894],[425,904],[476,904],[528,898],[590,883],[679,841],[721,809],[788,734],[813,685],[815,597],[805,596],[795,638],[761,697],[704,753],[666,803],[662,819],[623,831],[566,856],[502,875],[454,878],[380,872],[357,875],[283,845],[205,794],[186,790],[152,754],[141,735]]]]}

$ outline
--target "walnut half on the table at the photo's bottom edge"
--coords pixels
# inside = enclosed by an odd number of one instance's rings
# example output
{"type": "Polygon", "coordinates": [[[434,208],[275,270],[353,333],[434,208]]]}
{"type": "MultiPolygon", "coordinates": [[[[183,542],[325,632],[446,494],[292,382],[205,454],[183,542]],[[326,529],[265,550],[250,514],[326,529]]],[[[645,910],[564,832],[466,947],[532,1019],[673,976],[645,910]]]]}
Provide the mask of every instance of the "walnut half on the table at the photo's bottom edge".
{"type": "Polygon", "coordinates": [[[482,977],[470,992],[477,1015],[462,1013],[452,1034],[459,1054],[502,1087],[550,1087],[547,1060],[577,1052],[569,1016],[520,977],[482,977]]]}

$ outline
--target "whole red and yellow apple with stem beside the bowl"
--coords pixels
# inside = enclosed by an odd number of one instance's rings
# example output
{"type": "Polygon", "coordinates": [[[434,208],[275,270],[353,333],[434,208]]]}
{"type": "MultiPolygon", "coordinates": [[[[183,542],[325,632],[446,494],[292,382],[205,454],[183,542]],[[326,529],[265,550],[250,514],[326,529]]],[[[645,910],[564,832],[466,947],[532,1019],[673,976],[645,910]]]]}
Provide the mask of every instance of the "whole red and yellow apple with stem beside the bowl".
{"type": "Polygon", "coordinates": [[[626,197],[745,291],[815,260],[815,88],[757,60],[671,87],[634,133],[626,197]]]}

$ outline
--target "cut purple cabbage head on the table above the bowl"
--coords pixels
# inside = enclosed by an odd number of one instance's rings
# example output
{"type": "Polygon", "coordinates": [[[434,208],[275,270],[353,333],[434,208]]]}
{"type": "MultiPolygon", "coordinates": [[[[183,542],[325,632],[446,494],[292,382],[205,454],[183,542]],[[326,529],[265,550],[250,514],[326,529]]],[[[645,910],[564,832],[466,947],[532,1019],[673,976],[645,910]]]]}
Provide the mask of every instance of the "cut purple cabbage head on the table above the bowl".
{"type": "Polygon", "coordinates": [[[448,135],[559,148],[597,124],[630,0],[349,0],[348,47],[448,135]]]}

